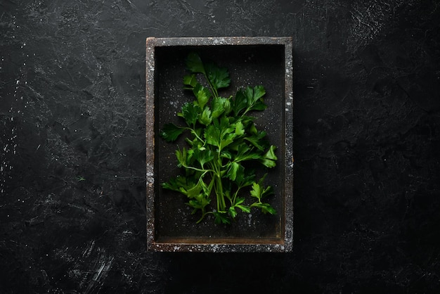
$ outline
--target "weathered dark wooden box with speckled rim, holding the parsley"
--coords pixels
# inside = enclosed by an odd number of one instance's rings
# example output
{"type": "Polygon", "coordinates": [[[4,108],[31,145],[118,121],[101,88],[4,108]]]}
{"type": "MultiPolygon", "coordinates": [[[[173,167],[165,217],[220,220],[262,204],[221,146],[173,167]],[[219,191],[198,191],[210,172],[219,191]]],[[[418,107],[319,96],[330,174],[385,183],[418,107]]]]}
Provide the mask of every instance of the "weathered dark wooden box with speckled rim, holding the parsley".
{"type": "MultiPolygon", "coordinates": [[[[293,242],[293,94],[292,39],[290,37],[196,37],[146,40],[146,204],[147,248],[150,251],[288,252],[293,242]],[[262,84],[267,109],[255,113],[259,129],[278,146],[277,167],[266,182],[273,186],[271,205],[278,215],[252,210],[231,225],[216,225],[207,217],[196,224],[185,196],[160,185],[179,173],[176,143],[158,136],[167,122],[181,124],[176,113],[192,97],[183,91],[190,51],[228,68],[231,86],[262,84]]],[[[181,145],[184,143],[181,142],[181,145]]]]}

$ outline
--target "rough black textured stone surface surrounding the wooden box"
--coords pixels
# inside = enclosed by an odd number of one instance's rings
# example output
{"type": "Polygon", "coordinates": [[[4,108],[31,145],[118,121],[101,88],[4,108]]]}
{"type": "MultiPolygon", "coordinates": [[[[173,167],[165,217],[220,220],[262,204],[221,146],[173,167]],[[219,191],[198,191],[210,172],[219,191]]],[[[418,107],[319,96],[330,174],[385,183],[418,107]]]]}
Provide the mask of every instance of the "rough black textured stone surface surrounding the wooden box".
{"type": "Polygon", "coordinates": [[[1,0],[1,293],[435,293],[440,3],[1,0]],[[145,38],[292,36],[295,244],[145,252],[145,38]]]}

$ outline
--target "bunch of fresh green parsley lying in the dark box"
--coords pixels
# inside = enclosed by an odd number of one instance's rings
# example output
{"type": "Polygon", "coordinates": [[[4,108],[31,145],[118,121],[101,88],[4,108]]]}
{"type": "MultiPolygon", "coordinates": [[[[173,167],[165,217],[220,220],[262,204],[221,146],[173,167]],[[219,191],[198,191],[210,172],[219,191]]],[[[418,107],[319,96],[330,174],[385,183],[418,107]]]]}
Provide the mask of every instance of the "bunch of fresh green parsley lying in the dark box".
{"type": "Polygon", "coordinates": [[[266,174],[257,180],[252,169],[276,166],[276,146],[268,143],[266,132],[257,130],[255,117],[248,115],[266,109],[266,90],[261,85],[246,87],[238,89],[235,97],[224,98],[219,90],[231,84],[226,68],[203,63],[196,53],[188,55],[186,68],[190,75],[183,77],[183,89],[195,96],[195,101],[185,103],[177,114],[186,126],[168,123],[160,132],[168,142],[176,141],[184,132],[188,135],[188,148],[176,150],[183,174],[162,183],[162,187],[185,195],[192,213],[201,212],[198,222],[212,214],[216,224],[230,224],[238,212],[250,213],[252,207],[276,214],[269,203],[263,202],[273,194],[273,188],[263,184],[266,174]],[[200,75],[205,77],[205,86],[198,81],[200,75]],[[253,201],[250,205],[245,204],[246,195],[253,201]],[[212,198],[216,203],[211,205],[212,198]]]}

